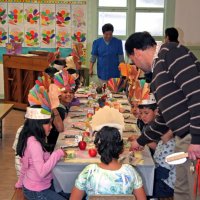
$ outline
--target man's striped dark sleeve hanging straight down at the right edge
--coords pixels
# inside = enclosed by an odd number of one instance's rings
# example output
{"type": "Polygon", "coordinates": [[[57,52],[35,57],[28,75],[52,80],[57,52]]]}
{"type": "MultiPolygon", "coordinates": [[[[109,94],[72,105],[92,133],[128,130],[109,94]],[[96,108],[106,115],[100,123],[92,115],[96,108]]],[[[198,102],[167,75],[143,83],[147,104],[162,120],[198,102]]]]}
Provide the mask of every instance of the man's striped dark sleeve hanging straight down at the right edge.
{"type": "Polygon", "coordinates": [[[182,90],[190,112],[192,144],[200,144],[200,71],[196,57],[183,46],[166,55],[168,71],[182,90]]]}

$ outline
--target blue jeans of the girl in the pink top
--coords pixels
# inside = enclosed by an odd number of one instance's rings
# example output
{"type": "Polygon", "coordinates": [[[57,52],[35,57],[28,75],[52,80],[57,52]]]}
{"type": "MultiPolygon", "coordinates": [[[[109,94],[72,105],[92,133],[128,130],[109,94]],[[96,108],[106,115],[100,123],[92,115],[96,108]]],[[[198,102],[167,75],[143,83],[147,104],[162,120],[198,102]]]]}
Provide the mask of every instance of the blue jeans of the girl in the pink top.
{"type": "Polygon", "coordinates": [[[23,193],[27,200],[66,200],[64,197],[52,190],[52,188],[36,192],[23,187],[23,193]]]}

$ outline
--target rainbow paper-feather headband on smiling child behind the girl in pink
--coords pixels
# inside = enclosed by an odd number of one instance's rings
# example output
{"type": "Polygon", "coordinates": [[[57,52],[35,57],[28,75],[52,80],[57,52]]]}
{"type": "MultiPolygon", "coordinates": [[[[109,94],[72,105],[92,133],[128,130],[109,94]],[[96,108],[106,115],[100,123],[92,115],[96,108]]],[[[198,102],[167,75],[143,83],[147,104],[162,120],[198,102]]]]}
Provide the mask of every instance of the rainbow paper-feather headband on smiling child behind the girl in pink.
{"type": "Polygon", "coordinates": [[[76,87],[75,78],[63,69],[54,74],[54,84],[56,84],[61,91],[74,90],[76,87]]]}

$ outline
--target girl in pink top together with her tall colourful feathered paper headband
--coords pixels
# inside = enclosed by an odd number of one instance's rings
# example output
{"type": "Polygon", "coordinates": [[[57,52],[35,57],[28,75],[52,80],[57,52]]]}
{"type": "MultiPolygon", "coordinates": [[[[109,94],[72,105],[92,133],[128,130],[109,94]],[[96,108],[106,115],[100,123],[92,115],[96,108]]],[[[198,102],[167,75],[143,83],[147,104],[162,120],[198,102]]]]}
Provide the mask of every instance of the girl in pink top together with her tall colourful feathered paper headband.
{"type": "Polygon", "coordinates": [[[52,128],[51,111],[59,104],[58,87],[42,85],[42,81],[38,85],[39,80],[42,79],[39,78],[29,91],[31,107],[27,108],[17,143],[16,154],[21,158],[21,170],[15,188],[22,188],[24,196],[31,200],[64,200],[53,190],[51,171],[65,152],[62,149],[52,152],[47,143],[52,128]]]}

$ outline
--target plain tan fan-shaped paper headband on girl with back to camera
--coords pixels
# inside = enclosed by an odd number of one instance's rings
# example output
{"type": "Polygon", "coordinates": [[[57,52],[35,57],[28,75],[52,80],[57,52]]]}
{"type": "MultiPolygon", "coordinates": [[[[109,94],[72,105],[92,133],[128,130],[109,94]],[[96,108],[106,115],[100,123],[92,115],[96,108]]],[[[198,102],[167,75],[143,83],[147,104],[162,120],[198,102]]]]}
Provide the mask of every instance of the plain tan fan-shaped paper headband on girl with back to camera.
{"type": "Polygon", "coordinates": [[[92,131],[99,131],[104,126],[117,128],[122,135],[124,129],[123,114],[120,113],[119,110],[111,108],[109,106],[104,106],[103,108],[100,108],[92,117],[92,131]]]}

